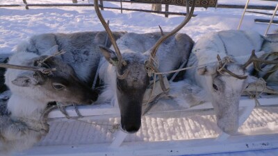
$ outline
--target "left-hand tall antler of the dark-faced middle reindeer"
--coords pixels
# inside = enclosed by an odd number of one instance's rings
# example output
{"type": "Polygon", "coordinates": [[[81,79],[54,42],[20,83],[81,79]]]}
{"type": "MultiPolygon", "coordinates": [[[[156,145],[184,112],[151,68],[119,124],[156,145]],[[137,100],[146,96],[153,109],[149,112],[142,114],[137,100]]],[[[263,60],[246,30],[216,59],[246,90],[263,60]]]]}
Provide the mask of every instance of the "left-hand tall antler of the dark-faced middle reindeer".
{"type": "Polygon", "coordinates": [[[119,47],[117,46],[116,40],[113,36],[113,33],[111,32],[108,24],[106,24],[106,21],[104,20],[104,17],[101,15],[101,12],[99,10],[99,3],[97,0],[94,0],[94,6],[95,6],[95,11],[97,12],[97,17],[99,17],[99,20],[101,21],[102,26],[104,26],[109,39],[111,40],[111,43],[115,49],[115,52],[117,53],[117,58],[119,60],[120,63],[126,65],[126,62],[122,59],[122,54],[119,50],[119,47]]]}

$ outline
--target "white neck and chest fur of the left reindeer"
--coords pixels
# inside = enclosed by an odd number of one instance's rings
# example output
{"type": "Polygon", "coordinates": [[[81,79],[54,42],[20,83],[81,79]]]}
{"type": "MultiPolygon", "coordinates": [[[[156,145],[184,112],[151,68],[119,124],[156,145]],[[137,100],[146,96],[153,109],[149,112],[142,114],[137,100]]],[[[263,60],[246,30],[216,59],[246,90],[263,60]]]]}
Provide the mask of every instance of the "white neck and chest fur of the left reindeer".
{"type": "MultiPolygon", "coordinates": [[[[31,60],[36,57],[38,57],[38,55],[34,53],[15,53],[15,55],[10,58],[9,63],[27,65],[26,60],[31,60]]],[[[10,91],[13,93],[8,101],[7,108],[11,112],[10,120],[16,122],[18,120],[22,121],[24,124],[26,123],[29,128],[33,128],[33,130],[28,130],[26,125],[22,125],[20,122],[12,123],[11,125],[7,125],[6,128],[3,128],[1,130],[1,135],[5,139],[3,139],[0,148],[0,151],[3,153],[11,150],[30,148],[40,140],[40,137],[45,135],[40,131],[43,128],[39,121],[42,111],[47,107],[49,99],[42,98],[44,96],[42,96],[38,88],[19,87],[12,83],[17,76],[26,72],[33,71],[7,69],[5,74],[6,85],[8,85],[10,91]]]]}

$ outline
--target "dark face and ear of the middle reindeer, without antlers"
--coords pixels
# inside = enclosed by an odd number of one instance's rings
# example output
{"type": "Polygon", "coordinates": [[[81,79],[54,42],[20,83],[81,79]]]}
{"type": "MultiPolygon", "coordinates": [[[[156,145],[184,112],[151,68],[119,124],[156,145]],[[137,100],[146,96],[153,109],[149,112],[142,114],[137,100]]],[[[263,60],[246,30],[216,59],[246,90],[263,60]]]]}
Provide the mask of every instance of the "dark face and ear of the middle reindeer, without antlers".
{"type": "Polygon", "coordinates": [[[122,129],[137,132],[140,129],[142,99],[149,85],[145,57],[139,53],[123,53],[125,65],[111,49],[101,47],[104,58],[116,67],[117,101],[120,107],[122,129]]]}

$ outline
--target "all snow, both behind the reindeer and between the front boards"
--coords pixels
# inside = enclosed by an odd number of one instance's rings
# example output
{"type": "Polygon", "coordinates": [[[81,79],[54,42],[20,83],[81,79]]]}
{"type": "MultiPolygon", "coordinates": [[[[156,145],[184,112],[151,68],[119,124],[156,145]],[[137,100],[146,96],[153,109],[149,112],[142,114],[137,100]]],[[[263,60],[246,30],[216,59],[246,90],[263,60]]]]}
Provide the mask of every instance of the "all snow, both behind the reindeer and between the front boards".
{"type": "MultiPolygon", "coordinates": [[[[71,0],[45,0],[31,1],[28,3],[71,3],[71,0]]],[[[79,1],[79,3],[88,3],[88,1],[79,1]]],[[[91,2],[90,2],[91,3],[91,2]]],[[[245,5],[246,1],[219,0],[223,4],[245,5]]],[[[13,48],[22,40],[26,40],[31,35],[40,33],[73,33],[79,31],[103,31],[103,26],[95,14],[93,7],[29,7],[24,8],[21,0],[1,0],[1,4],[20,4],[21,7],[0,8],[0,53],[10,53],[13,48]]],[[[276,6],[277,1],[250,1],[250,5],[276,6]]],[[[104,2],[104,6],[119,7],[120,3],[104,2]]],[[[151,4],[123,3],[123,8],[140,8],[149,10],[151,4]]],[[[170,6],[172,12],[184,12],[185,8],[181,6],[170,6]]],[[[263,12],[272,13],[273,10],[264,10],[263,12]]],[[[229,29],[236,29],[243,9],[224,9],[224,8],[196,8],[195,14],[190,22],[181,29],[181,33],[187,33],[193,40],[197,41],[202,35],[229,29]]],[[[102,11],[104,18],[109,19],[112,31],[127,31],[135,33],[150,33],[159,31],[158,25],[163,31],[171,31],[177,26],[184,17],[170,15],[165,18],[163,15],[151,14],[147,12],[131,12],[123,10],[102,11]]],[[[241,30],[254,30],[262,35],[268,24],[255,23],[255,18],[269,19],[270,15],[260,15],[247,12],[243,19],[241,30]]],[[[277,19],[277,17],[275,17],[277,19]]],[[[278,30],[277,24],[272,24],[269,33],[275,33],[278,30]]],[[[215,116],[204,112],[202,116],[191,114],[182,118],[154,118],[146,116],[143,119],[142,128],[136,135],[129,135],[125,141],[177,141],[182,139],[201,139],[217,137],[220,130],[215,125],[215,116]],[[188,121],[188,122],[185,122],[188,121]],[[213,124],[206,124],[206,122],[213,124]],[[187,124],[187,125],[186,125],[187,124]],[[184,128],[176,128],[180,125],[184,128]],[[200,129],[202,128],[202,130],[200,129]],[[185,132],[185,131],[186,132],[185,132]]],[[[171,114],[173,115],[173,114],[171,114]]],[[[182,116],[181,114],[177,114],[182,116]]],[[[278,130],[277,108],[260,108],[252,112],[251,119],[247,120],[240,128],[240,132],[245,135],[258,135],[265,132],[274,133],[278,130]]],[[[91,121],[88,119],[88,121],[91,121]]],[[[118,118],[109,118],[101,123],[119,123],[118,118]]],[[[107,132],[109,128],[102,128],[99,125],[92,128],[92,125],[86,125],[78,121],[57,121],[51,123],[51,132],[38,146],[54,146],[68,144],[92,144],[92,142],[108,143],[111,142],[114,134],[107,132]],[[77,128],[75,131],[69,128],[77,128]],[[56,131],[56,132],[54,132],[56,131]],[[74,136],[69,137],[68,136],[74,136]],[[77,138],[81,139],[77,139],[77,138]]],[[[277,150],[270,150],[277,153],[277,150]]],[[[245,153],[253,155],[254,153],[245,153]],[[250,154],[251,153],[251,154],[250,154]]],[[[263,152],[259,152],[263,153],[263,152]]],[[[232,154],[231,154],[232,155],[232,154]]],[[[237,155],[237,154],[235,154],[237,155]]],[[[238,154],[242,155],[242,154],[238,154]]],[[[263,154],[259,154],[263,155],[263,154]]]]}

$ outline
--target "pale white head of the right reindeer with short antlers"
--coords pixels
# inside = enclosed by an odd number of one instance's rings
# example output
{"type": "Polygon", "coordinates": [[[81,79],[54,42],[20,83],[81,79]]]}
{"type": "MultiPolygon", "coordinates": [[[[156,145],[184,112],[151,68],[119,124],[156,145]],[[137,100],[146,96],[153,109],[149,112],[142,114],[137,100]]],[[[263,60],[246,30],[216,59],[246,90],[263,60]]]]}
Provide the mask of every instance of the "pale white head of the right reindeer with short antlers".
{"type": "Polygon", "coordinates": [[[203,83],[208,86],[207,92],[211,93],[218,127],[227,134],[237,132],[240,96],[243,90],[256,80],[246,70],[252,62],[254,62],[254,67],[258,67],[258,62],[278,63],[260,60],[252,51],[250,59],[245,64],[234,62],[230,57],[221,60],[218,55],[218,64],[197,69],[198,74],[206,78],[206,82],[203,83]]]}

